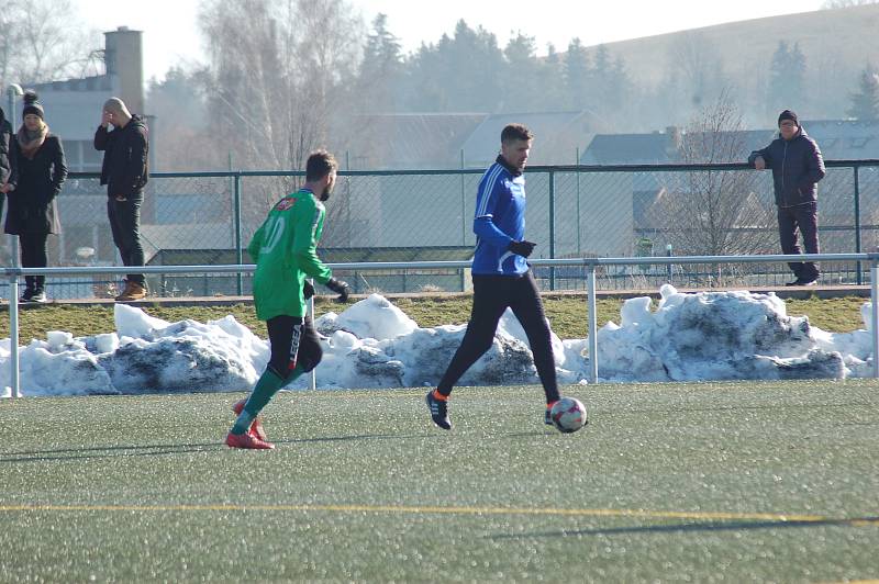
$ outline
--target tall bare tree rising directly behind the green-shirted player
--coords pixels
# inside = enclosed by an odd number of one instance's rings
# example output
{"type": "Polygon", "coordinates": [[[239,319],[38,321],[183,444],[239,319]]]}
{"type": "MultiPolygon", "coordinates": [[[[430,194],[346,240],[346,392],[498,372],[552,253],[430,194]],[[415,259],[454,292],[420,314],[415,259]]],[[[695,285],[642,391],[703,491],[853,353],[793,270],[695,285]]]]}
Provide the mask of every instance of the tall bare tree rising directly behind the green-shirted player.
{"type": "MultiPolygon", "coordinates": [[[[365,36],[344,0],[209,0],[201,22],[210,55],[208,109],[215,147],[238,168],[304,167],[315,148],[344,143],[345,103],[365,36]]],[[[297,180],[251,181],[254,226],[297,180]]],[[[332,226],[332,222],[327,222],[332,226]]],[[[326,238],[326,235],[325,235],[326,238]]]]}

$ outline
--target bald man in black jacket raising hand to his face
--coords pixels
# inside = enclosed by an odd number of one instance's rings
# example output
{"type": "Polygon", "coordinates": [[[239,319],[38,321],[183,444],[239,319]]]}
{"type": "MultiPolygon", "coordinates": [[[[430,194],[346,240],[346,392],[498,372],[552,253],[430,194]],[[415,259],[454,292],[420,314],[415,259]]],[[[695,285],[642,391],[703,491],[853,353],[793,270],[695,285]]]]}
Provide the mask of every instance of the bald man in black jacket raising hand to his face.
{"type": "MultiPolygon", "coordinates": [[[[147,155],[149,142],[146,124],[129,113],[119,98],[103,104],[101,125],[94,133],[94,148],[103,150],[101,184],[107,184],[107,214],[113,232],[113,243],[125,266],[143,266],[144,248],[141,245],[141,204],[148,179],[147,155]],[[113,130],[109,130],[109,125],[113,130]]],[[[146,281],[142,273],[130,273],[125,290],[118,301],[141,300],[146,296],[146,281]]]]}

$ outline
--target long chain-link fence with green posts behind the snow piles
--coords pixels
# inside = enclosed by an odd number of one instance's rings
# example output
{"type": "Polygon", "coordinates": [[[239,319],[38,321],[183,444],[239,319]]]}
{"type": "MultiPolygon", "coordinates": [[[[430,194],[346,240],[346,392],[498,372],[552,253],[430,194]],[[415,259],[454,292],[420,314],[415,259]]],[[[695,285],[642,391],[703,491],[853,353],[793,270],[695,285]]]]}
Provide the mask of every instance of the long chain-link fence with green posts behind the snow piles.
{"type": "MultiPolygon", "coordinates": [[[[879,160],[827,161],[819,184],[821,251],[879,246],[879,160]]],[[[326,203],[321,257],[327,262],[466,260],[483,169],[341,171],[326,203]]],[[[251,262],[251,236],[301,172],[156,173],[141,210],[147,263],[251,262]]],[[[771,172],[744,165],[531,167],[527,237],[538,258],[778,254],[771,172]]],[[[119,266],[97,175],[74,172],[58,196],[63,233],[49,238],[51,266],[119,266]]],[[[12,239],[0,248],[13,263],[12,239]]],[[[860,284],[866,267],[823,265],[822,281],[860,284]]],[[[585,270],[537,268],[544,290],[583,290],[585,270]]],[[[469,289],[467,270],[340,272],[357,293],[469,289]]],[[[602,290],[778,285],[785,265],[619,266],[598,274],[602,290]]],[[[247,295],[240,274],[151,276],[157,296],[247,295]]],[[[49,280],[54,299],[108,297],[119,282],[49,280]]],[[[5,289],[0,288],[0,295],[5,289]]]]}

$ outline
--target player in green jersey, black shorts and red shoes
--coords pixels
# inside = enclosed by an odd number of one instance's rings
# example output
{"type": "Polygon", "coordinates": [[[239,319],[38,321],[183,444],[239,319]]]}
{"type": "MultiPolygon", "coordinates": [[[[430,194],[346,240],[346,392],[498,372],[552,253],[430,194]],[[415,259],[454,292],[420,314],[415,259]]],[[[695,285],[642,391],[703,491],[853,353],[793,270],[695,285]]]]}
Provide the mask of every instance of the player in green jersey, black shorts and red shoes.
{"type": "Polygon", "coordinates": [[[266,440],[259,412],[281,388],[321,362],[320,339],[305,314],[305,300],[314,295],[307,278],[336,292],[340,302],[348,300],[348,284],[333,278],[316,254],[326,214],[323,201],[333,192],[337,168],[332,154],[311,154],[305,184],[272,207],[247,246],[256,261],[256,316],[266,321],[271,357],[249,397],[233,406],[238,417],[226,436],[231,448],[275,448],[266,440]]]}

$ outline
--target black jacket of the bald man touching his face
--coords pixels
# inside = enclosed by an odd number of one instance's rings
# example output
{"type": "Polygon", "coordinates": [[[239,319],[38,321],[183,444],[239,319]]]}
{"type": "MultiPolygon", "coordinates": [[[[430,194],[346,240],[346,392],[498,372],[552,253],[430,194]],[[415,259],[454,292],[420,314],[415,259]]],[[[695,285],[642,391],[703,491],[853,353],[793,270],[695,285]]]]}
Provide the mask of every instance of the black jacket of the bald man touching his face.
{"type": "Polygon", "coordinates": [[[149,179],[149,141],[141,116],[133,115],[125,127],[115,127],[112,132],[98,126],[94,149],[104,151],[101,184],[108,186],[108,196],[131,196],[143,191],[149,179]]]}

